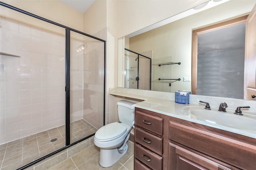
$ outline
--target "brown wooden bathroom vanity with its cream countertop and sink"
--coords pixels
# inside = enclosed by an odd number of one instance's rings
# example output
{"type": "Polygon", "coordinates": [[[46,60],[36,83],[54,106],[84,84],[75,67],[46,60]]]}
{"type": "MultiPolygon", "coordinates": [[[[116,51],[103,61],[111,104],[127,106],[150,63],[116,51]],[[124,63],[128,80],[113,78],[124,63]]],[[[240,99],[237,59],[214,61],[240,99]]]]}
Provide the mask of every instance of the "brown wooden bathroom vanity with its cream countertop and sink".
{"type": "Polygon", "coordinates": [[[110,94],[143,100],[133,105],[134,170],[255,170],[255,101],[190,95],[190,104],[178,104],[172,93],[125,88],[110,94]],[[222,102],[227,112],[218,111],[222,102]],[[234,114],[240,106],[250,108],[234,114]]]}

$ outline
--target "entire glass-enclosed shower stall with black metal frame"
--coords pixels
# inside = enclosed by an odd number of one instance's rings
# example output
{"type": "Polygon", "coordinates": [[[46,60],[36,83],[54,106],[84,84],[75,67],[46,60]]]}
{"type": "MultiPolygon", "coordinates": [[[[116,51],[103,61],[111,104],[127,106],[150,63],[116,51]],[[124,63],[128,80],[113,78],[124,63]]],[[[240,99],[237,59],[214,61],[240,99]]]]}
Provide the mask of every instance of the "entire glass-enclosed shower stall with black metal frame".
{"type": "Polygon", "coordinates": [[[0,5],[0,169],[23,169],[104,125],[106,42],[0,5]]]}

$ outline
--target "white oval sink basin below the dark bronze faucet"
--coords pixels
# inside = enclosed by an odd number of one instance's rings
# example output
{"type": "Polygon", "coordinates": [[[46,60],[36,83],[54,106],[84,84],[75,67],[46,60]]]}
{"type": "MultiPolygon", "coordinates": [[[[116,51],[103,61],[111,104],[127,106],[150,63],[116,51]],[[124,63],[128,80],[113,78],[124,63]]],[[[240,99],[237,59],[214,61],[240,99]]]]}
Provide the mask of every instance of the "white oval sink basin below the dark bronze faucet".
{"type": "MultiPolygon", "coordinates": [[[[217,108],[211,110],[200,106],[186,106],[182,109],[183,113],[188,113],[191,119],[205,121],[207,123],[232,127],[234,129],[256,131],[256,117],[247,115],[236,115],[234,111],[218,111],[217,108]]],[[[243,112],[244,113],[244,112],[243,112]]]]}

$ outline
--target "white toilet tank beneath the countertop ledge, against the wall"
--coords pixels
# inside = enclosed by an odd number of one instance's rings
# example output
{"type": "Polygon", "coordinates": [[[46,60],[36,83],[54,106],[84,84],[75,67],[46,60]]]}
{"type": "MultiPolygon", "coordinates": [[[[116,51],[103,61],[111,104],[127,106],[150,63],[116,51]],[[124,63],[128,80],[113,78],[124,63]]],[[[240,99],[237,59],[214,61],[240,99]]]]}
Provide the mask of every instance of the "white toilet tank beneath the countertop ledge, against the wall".
{"type": "Polygon", "coordinates": [[[136,103],[138,102],[128,100],[120,100],[117,102],[118,118],[120,122],[132,127],[132,122],[134,121],[134,106],[132,105],[136,103]]]}

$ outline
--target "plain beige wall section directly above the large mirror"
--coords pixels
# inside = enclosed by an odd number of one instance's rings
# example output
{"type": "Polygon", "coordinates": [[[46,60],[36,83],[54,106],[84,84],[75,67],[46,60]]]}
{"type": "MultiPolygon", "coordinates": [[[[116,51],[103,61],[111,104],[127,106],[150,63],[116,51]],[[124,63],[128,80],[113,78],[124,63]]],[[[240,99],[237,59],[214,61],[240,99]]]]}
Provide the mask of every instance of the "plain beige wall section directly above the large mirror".
{"type": "Polygon", "coordinates": [[[118,38],[193,8],[208,0],[118,0],[118,38]]]}

